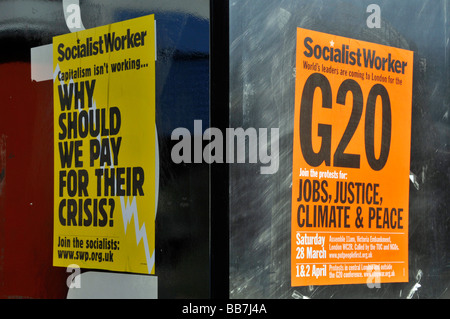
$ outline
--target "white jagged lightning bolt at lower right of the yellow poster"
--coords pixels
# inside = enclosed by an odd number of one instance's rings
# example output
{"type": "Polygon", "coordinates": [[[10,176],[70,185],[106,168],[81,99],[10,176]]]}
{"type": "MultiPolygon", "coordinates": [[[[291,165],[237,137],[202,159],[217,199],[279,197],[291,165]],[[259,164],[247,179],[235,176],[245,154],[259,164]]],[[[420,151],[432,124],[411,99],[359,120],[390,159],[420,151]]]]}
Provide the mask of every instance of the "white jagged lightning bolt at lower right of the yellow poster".
{"type": "Polygon", "coordinates": [[[123,217],[123,227],[125,228],[125,234],[127,233],[127,226],[134,219],[134,229],[136,233],[136,245],[139,245],[141,239],[144,242],[145,258],[147,259],[147,269],[148,273],[152,272],[153,265],[155,263],[155,254],[150,256],[150,248],[148,247],[147,232],[145,230],[145,223],[139,228],[139,218],[136,204],[136,197],[133,197],[131,204],[129,202],[129,197],[127,198],[127,203],[125,204],[125,197],[120,197],[120,206],[122,207],[122,217],[123,217]]]}

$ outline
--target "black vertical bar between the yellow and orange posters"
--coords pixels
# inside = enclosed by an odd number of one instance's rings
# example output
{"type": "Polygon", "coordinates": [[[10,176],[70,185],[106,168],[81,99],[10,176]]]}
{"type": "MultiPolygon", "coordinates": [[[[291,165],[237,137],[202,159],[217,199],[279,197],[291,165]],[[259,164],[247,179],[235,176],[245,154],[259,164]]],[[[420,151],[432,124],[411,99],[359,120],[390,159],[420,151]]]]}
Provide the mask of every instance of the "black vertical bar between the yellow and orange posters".
{"type": "MultiPolygon", "coordinates": [[[[210,126],[229,125],[228,0],[210,1],[210,126]]],[[[210,294],[229,298],[228,164],[210,166],[210,294]]]]}

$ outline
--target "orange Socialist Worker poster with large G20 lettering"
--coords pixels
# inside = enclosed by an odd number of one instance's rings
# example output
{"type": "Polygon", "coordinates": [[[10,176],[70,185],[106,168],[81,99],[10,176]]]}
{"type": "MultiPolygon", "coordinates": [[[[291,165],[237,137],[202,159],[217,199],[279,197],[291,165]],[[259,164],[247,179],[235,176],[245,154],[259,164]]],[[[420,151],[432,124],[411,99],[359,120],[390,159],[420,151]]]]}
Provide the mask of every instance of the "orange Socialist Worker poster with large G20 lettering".
{"type": "Polygon", "coordinates": [[[413,52],[297,29],[292,286],[408,281],[413,52]]]}

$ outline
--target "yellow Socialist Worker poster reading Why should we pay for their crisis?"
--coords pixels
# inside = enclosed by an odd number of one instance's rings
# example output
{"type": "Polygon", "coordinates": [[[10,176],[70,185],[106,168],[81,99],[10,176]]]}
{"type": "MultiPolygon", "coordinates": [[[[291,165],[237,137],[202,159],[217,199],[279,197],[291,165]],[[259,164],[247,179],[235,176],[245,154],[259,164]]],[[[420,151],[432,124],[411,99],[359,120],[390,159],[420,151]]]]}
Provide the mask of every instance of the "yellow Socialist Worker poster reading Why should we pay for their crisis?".
{"type": "Polygon", "coordinates": [[[155,22],[53,38],[53,265],[154,274],[155,22]]]}

